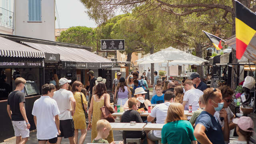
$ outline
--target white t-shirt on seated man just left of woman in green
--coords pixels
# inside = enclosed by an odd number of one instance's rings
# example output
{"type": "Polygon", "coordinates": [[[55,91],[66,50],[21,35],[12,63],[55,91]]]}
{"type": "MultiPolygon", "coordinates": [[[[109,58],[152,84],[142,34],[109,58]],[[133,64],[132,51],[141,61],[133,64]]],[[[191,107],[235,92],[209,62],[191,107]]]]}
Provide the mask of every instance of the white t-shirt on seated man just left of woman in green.
{"type": "MultiPolygon", "coordinates": [[[[170,102],[165,102],[165,103],[156,105],[152,109],[150,116],[153,118],[156,118],[157,124],[164,124],[170,104],[171,104],[170,102]]],[[[154,136],[158,138],[162,138],[161,130],[154,130],[154,136]]]]}

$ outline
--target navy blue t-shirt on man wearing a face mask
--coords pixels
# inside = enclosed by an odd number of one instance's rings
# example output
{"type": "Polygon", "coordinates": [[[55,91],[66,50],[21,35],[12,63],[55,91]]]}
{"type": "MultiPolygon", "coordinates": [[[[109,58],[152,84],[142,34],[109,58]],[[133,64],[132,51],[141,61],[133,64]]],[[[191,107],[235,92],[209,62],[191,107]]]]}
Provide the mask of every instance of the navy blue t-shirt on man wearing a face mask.
{"type": "MultiPolygon", "coordinates": [[[[224,144],[224,136],[218,120],[206,111],[202,111],[195,124],[205,127],[205,134],[213,144],[224,144]]],[[[198,144],[200,144],[198,142],[198,144]]]]}

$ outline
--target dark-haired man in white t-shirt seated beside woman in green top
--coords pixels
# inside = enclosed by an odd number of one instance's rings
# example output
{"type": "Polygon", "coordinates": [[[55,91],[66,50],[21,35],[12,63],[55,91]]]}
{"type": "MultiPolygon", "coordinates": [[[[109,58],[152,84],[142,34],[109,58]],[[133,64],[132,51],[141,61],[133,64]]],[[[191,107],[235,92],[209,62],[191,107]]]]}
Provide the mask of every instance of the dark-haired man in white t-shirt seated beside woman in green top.
{"type": "MultiPolygon", "coordinates": [[[[148,122],[152,122],[156,118],[157,124],[164,124],[167,116],[167,111],[170,106],[170,102],[174,100],[175,94],[172,91],[167,91],[164,94],[164,103],[156,105],[150,115],[148,116],[148,122]]],[[[147,134],[148,144],[155,144],[154,141],[161,140],[161,130],[151,130],[147,134]]]]}

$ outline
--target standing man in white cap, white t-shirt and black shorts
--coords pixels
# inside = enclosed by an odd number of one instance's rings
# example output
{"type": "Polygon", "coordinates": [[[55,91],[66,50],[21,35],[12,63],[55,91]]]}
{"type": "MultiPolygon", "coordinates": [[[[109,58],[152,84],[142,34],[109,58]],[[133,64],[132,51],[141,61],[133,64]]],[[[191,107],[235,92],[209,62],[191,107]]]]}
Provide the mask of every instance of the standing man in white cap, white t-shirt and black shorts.
{"type": "Polygon", "coordinates": [[[71,80],[61,78],[59,80],[60,90],[54,92],[53,99],[56,100],[60,110],[60,135],[58,136],[57,144],[60,144],[62,137],[68,138],[70,144],[75,144],[74,140],[74,121],[72,116],[76,109],[76,100],[71,91],[68,91],[68,86],[71,80]]]}

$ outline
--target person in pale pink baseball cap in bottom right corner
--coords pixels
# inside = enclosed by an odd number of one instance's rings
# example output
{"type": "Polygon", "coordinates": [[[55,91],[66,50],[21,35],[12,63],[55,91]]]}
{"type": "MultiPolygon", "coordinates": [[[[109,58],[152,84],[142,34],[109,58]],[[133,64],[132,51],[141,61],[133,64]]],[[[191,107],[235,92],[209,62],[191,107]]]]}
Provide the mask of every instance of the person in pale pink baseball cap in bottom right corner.
{"type": "Polygon", "coordinates": [[[236,133],[238,134],[238,140],[230,142],[230,144],[252,144],[250,142],[250,136],[254,133],[252,118],[242,116],[241,118],[233,119],[233,123],[237,124],[236,133]]]}

